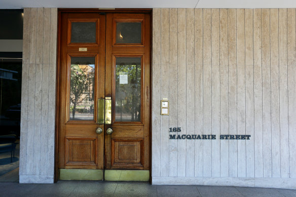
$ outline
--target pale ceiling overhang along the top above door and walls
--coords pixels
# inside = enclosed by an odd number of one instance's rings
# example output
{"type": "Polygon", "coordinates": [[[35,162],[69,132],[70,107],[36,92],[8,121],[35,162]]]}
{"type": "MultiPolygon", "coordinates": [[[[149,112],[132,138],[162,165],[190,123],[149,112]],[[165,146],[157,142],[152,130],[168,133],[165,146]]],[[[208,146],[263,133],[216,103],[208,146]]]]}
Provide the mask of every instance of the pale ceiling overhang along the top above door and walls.
{"type": "Polygon", "coordinates": [[[21,8],[296,8],[295,0],[1,0],[0,9],[21,8]]]}

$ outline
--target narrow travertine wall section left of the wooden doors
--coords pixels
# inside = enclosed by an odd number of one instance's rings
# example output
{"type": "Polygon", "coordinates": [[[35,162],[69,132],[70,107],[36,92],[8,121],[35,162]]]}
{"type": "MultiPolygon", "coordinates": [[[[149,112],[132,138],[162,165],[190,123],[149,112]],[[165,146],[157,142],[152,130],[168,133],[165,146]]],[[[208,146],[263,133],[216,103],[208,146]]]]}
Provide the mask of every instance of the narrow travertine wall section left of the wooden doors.
{"type": "Polygon", "coordinates": [[[57,9],[25,8],[20,183],[53,183],[57,9]]]}

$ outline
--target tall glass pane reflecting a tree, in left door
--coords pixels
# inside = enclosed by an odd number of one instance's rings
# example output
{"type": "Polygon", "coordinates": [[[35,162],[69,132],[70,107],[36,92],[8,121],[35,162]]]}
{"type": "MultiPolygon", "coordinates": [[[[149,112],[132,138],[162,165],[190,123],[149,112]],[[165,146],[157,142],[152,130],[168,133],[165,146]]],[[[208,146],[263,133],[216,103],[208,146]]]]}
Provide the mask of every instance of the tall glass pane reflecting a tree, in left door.
{"type": "Polygon", "coordinates": [[[71,57],[70,120],[94,120],[95,57],[71,57]]]}

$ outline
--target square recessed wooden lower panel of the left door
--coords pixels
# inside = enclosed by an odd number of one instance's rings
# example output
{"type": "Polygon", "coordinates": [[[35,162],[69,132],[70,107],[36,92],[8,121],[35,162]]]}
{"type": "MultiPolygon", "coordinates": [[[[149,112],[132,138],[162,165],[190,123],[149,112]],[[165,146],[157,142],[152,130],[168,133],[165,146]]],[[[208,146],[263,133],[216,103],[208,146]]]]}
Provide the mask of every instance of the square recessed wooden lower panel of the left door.
{"type": "Polygon", "coordinates": [[[65,166],[97,165],[97,138],[66,137],[65,166]]]}

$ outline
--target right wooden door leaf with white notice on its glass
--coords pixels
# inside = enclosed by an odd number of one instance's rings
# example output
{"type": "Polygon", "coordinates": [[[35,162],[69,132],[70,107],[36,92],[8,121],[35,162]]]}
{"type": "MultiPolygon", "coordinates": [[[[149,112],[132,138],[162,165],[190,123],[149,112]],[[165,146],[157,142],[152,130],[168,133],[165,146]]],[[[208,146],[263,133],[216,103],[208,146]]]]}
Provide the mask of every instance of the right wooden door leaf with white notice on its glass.
{"type": "MultiPolygon", "coordinates": [[[[108,170],[150,169],[150,15],[106,15],[105,97],[112,101],[104,135],[108,170]]],[[[105,119],[107,117],[105,116],[105,119]]]]}

